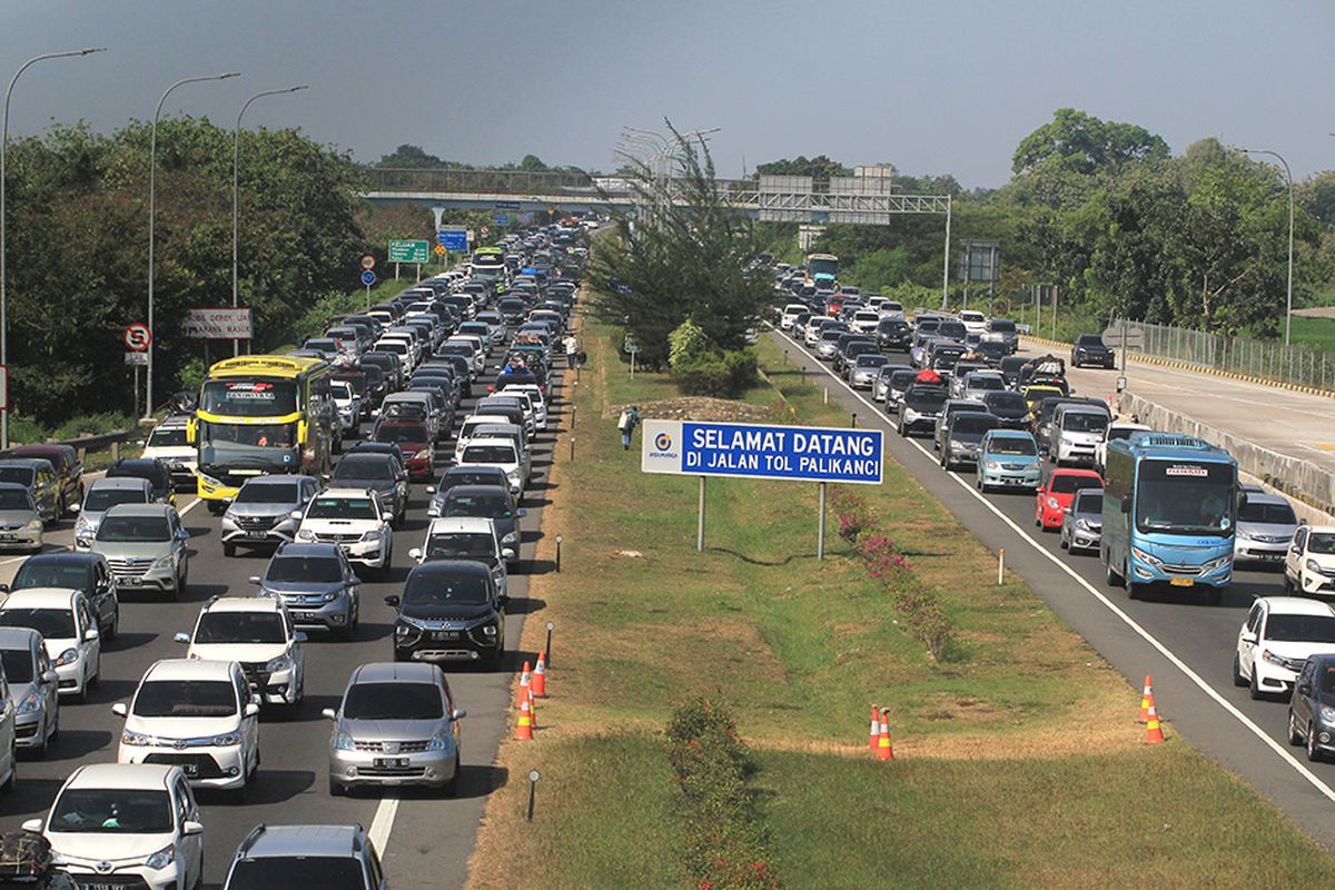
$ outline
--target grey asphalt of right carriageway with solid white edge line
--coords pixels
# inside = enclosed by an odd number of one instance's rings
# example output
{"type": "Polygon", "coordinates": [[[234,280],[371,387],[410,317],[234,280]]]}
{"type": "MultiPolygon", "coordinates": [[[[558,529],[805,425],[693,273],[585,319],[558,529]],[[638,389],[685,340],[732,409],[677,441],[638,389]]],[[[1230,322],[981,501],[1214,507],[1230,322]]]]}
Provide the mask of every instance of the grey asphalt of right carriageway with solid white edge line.
{"type": "MultiPolygon", "coordinates": [[[[1282,594],[1278,572],[1235,571],[1232,586],[1215,607],[1171,592],[1132,602],[1125,590],[1104,583],[1097,555],[1068,555],[1059,547],[1057,534],[1035,527],[1032,494],[979,494],[972,470],[944,471],[929,438],[900,438],[893,415],[886,415],[870,394],[854,394],[802,344],[777,331],[770,336],[793,362],[816,371],[813,382],[829,390],[832,402],[856,412],[858,427],[884,430],[886,452],[985,547],[992,552],[1004,548],[1007,570],[1023,576],[1133,690],[1140,690],[1147,674],[1153,677],[1169,742],[1181,735],[1252,785],[1319,843],[1335,849],[1335,765],[1308,763],[1302,749],[1288,745],[1284,702],[1254,702],[1246,689],[1232,683],[1238,630],[1254,598],[1282,594]]],[[[1076,387],[1083,394],[1113,390],[1116,371],[1077,374],[1076,387]]],[[[1139,715],[1133,698],[1128,695],[1128,707],[1139,715]]],[[[1148,799],[1171,793],[1153,789],[1148,799]]]]}

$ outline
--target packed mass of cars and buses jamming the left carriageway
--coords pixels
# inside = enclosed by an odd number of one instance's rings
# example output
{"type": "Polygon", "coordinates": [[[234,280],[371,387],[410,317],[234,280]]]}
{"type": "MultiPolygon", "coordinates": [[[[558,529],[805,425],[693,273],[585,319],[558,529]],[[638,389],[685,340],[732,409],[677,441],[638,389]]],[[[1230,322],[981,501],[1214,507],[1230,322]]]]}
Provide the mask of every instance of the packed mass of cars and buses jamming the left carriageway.
{"type": "MultiPolygon", "coordinates": [[[[43,779],[40,815],[21,826],[49,845],[61,881],[202,886],[211,814],[235,821],[235,807],[271,802],[264,750],[303,722],[327,730],[320,750],[298,751],[320,794],[458,794],[467,702],[455,674],[510,670],[525,504],[575,359],[593,224],[506,235],[328,319],[299,348],[214,363],[142,454],[103,474],[68,446],[0,455],[0,550],[21,559],[0,584],[0,787],[24,791],[32,761],[76,763],[43,779]],[[72,546],[53,546],[71,518],[72,546]],[[238,563],[247,583],[227,583],[218,566],[238,563]],[[163,635],[132,618],[142,603],[192,619],[166,634],[176,656],[109,681],[163,635]],[[371,658],[339,669],[342,694],[312,705],[338,647],[371,658]],[[108,711],[109,743],[71,753],[108,711]]],[[[235,854],[208,855],[226,865],[224,887],[383,886],[358,825],[260,823],[235,854]]]]}

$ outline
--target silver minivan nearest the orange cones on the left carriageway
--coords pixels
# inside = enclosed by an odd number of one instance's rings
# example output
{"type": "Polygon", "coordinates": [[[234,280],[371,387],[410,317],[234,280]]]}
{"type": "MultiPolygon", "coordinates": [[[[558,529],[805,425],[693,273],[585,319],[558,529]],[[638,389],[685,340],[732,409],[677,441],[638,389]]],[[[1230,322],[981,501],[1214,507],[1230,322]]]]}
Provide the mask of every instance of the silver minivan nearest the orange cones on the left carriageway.
{"type": "Polygon", "coordinates": [[[454,794],[459,785],[459,721],[450,683],[435,664],[362,664],[339,709],[324,709],[330,794],[355,786],[421,785],[454,794]]]}

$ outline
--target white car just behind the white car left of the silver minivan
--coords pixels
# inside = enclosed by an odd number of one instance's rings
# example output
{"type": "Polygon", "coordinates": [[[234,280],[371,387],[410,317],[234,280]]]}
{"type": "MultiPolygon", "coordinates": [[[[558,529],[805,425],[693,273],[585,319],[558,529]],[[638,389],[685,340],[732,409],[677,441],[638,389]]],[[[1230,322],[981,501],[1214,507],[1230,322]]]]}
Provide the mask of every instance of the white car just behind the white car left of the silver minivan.
{"type": "Polygon", "coordinates": [[[263,705],[302,703],[306,695],[306,634],[276,596],[218,596],[199,610],[186,658],[239,662],[263,705]]]}

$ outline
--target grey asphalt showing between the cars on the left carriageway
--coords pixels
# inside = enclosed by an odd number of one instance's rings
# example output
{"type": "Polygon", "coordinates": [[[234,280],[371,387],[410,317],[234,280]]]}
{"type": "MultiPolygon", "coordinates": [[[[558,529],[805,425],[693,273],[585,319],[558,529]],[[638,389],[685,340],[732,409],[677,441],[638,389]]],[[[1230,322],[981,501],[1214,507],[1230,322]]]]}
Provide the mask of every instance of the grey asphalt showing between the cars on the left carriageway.
{"type": "MultiPolygon", "coordinates": [[[[493,352],[493,358],[499,358],[499,350],[493,352]]],[[[499,366],[490,367],[485,379],[490,382],[498,370],[499,366]]],[[[247,791],[246,802],[234,803],[222,795],[198,793],[204,823],[206,887],[222,885],[236,846],[260,822],[359,822],[375,841],[395,890],[463,886],[486,798],[509,779],[494,766],[494,761],[507,729],[513,674],[523,659],[535,660],[534,652],[515,650],[525,616],[543,606],[541,600],[529,598],[529,576],[550,568],[534,563],[534,548],[542,535],[542,508],[550,503],[553,494],[547,484],[553,440],[562,430],[565,416],[559,398],[561,375],[554,375],[553,380],[557,396],[549,402],[547,431],[539,434],[534,443],[533,482],[522,503],[529,514],[521,520],[519,564],[509,580],[506,640],[510,663],[501,670],[446,667],[455,699],[467,710],[462,722],[463,767],[458,795],[442,798],[426,791],[403,790],[331,798],[326,787],[331,725],[320,717],[320,710],[338,707],[347,678],[358,664],[394,658],[390,640],[394,610],[384,604],[383,598],[402,592],[413,564],[409,550],[421,546],[429,522],[426,506],[430,495],[425,484],[414,484],[409,518],[403,528],[394,532],[390,578],[367,580],[362,586],[356,639],[340,643],[311,632],[306,643],[304,702],[290,718],[267,711],[262,714],[263,763],[259,781],[247,791]]],[[[483,391],[481,380],[474,384],[475,395],[483,391]]],[[[466,399],[457,418],[462,420],[471,414],[474,402],[466,399]]],[[[370,424],[363,423],[362,430],[368,432],[370,424]]],[[[437,476],[449,466],[446,455],[453,455],[453,451],[451,435],[438,447],[437,476]]],[[[184,646],[172,642],[172,635],[194,627],[202,603],[220,594],[254,592],[248,578],[263,574],[268,551],[239,550],[238,556],[227,559],[218,540],[219,518],[198,506],[194,496],[179,496],[178,510],[192,535],[187,591],[180,602],[146,595],[121,598],[120,635],[103,648],[101,682],[89,694],[88,703],[61,702],[60,738],[45,759],[20,755],[17,789],[0,798],[0,831],[17,831],[24,819],[45,817],[60,785],[76,766],[116,759],[124,721],[111,713],[112,703],[128,702],[139,679],[155,660],[184,655],[184,646]]],[[[47,550],[68,547],[73,538],[72,528],[72,520],[61,523],[48,536],[47,550]]],[[[0,578],[12,578],[21,562],[21,556],[0,559],[0,578]]]]}

